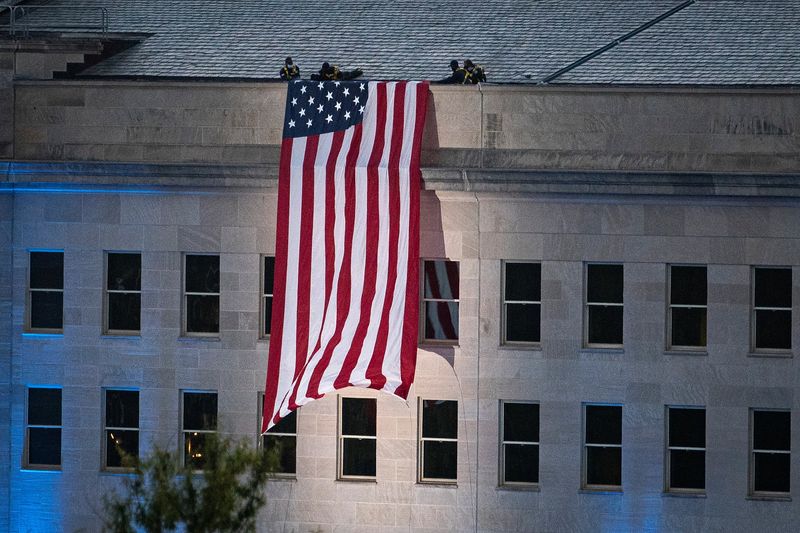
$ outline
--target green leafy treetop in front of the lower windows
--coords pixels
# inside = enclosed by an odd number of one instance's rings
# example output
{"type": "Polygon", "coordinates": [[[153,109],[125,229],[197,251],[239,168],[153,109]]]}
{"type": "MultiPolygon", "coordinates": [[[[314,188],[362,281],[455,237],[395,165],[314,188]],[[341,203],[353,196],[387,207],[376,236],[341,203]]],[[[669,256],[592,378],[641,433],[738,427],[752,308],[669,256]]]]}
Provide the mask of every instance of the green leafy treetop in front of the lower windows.
{"type": "Polygon", "coordinates": [[[203,455],[200,471],[182,466],[178,453],[162,448],[140,461],[126,458],[133,476],[122,494],[104,498],[106,530],[162,533],[182,526],[187,533],[254,531],[277,453],[209,434],[203,455]]]}

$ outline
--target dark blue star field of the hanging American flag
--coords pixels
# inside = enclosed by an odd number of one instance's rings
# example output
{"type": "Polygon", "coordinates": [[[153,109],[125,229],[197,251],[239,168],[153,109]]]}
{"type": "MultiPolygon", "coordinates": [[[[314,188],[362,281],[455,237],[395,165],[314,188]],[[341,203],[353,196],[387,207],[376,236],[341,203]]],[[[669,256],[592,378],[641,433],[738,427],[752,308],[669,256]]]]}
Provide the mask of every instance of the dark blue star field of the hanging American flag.
{"type": "Polygon", "coordinates": [[[284,137],[303,137],[344,130],[364,117],[365,81],[293,80],[286,97],[284,137]]]}

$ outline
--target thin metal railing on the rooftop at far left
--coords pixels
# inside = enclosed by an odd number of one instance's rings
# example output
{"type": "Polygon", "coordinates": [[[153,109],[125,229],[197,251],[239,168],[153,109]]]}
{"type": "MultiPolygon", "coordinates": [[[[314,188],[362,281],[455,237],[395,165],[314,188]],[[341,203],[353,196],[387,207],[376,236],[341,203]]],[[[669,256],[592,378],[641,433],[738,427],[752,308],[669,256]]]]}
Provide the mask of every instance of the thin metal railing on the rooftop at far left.
{"type": "Polygon", "coordinates": [[[29,37],[31,32],[108,33],[104,7],[15,5],[0,6],[0,32],[29,37]]]}

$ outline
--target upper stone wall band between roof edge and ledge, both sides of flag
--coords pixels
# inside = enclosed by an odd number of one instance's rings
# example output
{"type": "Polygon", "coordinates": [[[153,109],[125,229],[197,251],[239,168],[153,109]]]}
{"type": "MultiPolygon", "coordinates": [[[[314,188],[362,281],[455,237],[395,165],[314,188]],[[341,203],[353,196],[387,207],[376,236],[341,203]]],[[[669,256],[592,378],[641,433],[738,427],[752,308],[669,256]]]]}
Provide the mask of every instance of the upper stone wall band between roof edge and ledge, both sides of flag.
{"type": "MultiPolygon", "coordinates": [[[[20,160],[268,164],[278,83],[18,82],[20,160]]],[[[792,89],[432,86],[423,165],[653,172],[800,171],[792,89]]]]}

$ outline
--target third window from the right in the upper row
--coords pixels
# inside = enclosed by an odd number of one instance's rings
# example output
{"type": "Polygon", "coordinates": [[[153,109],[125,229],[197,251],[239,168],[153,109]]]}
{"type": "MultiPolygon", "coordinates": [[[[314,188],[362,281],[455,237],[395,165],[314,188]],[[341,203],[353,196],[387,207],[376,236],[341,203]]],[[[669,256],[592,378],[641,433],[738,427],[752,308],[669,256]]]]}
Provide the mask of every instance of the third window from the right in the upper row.
{"type": "Polygon", "coordinates": [[[622,265],[586,265],[586,346],[622,346],[622,265]]]}

